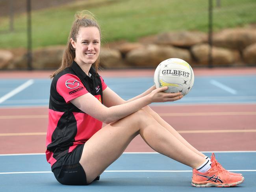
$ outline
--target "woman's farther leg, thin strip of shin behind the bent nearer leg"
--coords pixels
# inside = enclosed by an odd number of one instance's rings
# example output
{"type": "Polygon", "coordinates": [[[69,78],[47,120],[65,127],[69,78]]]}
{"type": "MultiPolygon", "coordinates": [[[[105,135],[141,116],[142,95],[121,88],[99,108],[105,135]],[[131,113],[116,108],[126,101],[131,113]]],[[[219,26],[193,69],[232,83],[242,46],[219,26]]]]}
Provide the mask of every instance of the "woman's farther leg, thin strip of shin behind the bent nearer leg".
{"type": "Polygon", "coordinates": [[[198,155],[202,157],[206,157],[203,153],[198,151],[196,148],[194,148],[189,142],[187,142],[170,124],[168,124],[165,120],[163,120],[154,110],[152,110],[149,106],[146,106],[143,108],[145,111],[147,111],[148,114],[150,114],[154,119],[165,129],[167,129],[171,134],[173,134],[174,137],[176,137],[180,142],[182,142],[187,148],[194,151],[198,155]]]}

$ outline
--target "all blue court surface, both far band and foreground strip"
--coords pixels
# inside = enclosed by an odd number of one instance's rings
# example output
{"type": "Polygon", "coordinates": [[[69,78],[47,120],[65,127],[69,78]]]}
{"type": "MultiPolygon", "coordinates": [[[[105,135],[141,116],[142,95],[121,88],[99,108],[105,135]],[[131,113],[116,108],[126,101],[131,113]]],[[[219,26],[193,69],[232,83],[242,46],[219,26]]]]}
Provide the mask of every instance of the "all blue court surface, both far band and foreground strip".
{"type": "MultiPolygon", "coordinates": [[[[103,77],[104,78],[104,77],[103,77]]],[[[143,78],[104,78],[125,100],[141,94],[154,82],[143,78]]],[[[1,79],[0,107],[48,106],[50,79],[1,79]]],[[[256,76],[199,76],[193,89],[177,102],[152,105],[255,104],[256,76]]],[[[210,156],[211,154],[205,153],[210,156]]],[[[191,168],[159,153],[124,153],[89,186],[64,186],[50,171],[45,154],[0,155],[1,192],[162,192],[232,191],[256,192],[256,151],[217,152],[227,170],[240,172],[245,181],[231,188],[191,186],[191,168]]]]}

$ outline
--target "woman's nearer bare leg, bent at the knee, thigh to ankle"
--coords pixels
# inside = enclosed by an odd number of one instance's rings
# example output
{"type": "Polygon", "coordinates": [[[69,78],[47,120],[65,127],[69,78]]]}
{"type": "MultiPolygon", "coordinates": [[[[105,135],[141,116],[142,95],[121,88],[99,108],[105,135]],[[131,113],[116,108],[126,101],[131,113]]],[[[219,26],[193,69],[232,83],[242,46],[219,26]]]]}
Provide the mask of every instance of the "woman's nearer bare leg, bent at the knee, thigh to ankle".
{"type": "Polygon", "coordinates": [[[192,168],[205,161],[142,109],[108,124],[85,143],[80,164],[87,175],[87,183],[114,162],[138,134],[154,150],[192,168]]]}

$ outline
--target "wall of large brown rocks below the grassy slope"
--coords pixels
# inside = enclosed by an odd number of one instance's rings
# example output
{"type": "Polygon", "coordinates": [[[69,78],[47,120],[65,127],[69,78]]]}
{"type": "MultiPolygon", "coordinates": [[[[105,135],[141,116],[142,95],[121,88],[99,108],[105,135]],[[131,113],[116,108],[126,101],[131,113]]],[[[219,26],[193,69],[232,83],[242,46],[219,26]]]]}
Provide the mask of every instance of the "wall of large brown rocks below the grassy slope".
{"type": "MultiPolygon", "coordinates": [[[[191,66],[207,66],[208,36],[199,31],[165,32],[137,42],[111,42],[100,50],[103,68],[155,68],[161,61],[176,57],[191,66]]],[[[56,69],[65,46],[33,50],[33,68],[56,69]]],[[[256,65],[256,27],[225,29],[213,34],[213,66],[256,65]]],[[[0,50],[0,69],[26,68],[26,50],[0,50]]]]}

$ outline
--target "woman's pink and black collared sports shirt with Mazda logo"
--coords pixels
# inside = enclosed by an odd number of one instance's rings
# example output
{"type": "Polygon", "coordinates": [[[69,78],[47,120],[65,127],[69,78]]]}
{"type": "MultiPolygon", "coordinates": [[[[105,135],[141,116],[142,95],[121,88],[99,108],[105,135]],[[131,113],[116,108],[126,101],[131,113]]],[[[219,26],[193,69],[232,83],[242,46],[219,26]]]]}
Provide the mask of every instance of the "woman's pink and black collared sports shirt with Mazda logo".
{"type": "Polygon", "coordinates": [[[102,122],[70,103],[87,93],[102,103],[102,91],[107,85],[92,67],[89,74],[90,77],[73,61],[52,80],[46,136],[46,159],[51,166],[102,128],[102,122]]]}

